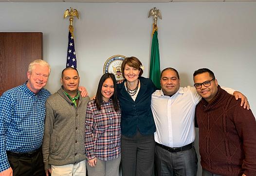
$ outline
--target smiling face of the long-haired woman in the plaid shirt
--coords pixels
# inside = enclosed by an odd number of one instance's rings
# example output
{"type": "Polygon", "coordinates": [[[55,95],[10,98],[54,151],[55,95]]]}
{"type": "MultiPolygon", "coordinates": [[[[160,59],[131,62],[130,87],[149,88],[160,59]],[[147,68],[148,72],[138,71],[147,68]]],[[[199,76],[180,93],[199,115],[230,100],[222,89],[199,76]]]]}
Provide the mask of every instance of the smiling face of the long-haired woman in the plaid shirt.
{"type": "Polygon", "coordinates": [[[102,100],[108,102],[114,94],[114,83],[111,78],[107,78],[101,88],[102,100]]]}

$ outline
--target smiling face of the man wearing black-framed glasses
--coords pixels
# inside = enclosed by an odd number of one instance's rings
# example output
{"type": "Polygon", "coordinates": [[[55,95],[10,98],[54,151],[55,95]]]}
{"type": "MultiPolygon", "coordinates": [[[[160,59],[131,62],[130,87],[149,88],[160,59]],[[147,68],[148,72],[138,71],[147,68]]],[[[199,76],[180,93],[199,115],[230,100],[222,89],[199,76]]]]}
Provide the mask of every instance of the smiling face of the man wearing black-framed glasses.
{"type": "MultiPolygon", "coordinates": [[[[210,74],[208,72],[204,72],[201,74],[197,74],[196,76],[194,76],[194,82],[195,84],[198,83],[203,83],[205,81],[210,81],[213,78],[210,76],[210,74]]],[[[212,80],[211,81],[211,86],[209,87],[205,87],[203,84],[201,85],[202,87],[197,89],[197,93],[204,98],[207,102],[210,102],[215,95],[218,92],[218,81],[212,80]]]]}

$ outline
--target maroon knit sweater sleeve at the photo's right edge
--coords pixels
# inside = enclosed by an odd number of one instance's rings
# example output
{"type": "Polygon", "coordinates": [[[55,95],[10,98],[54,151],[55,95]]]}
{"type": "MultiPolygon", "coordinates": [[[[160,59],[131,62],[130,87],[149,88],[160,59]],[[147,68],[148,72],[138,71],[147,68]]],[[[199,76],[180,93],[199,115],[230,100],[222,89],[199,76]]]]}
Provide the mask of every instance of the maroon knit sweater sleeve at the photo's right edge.
{"type": "Polygon", "coordinates": [[[256,176],[256,120],[251,110],[236,106],[234,122],[243,142],[245,159],[242,169],[246,176],[256,176]]]}

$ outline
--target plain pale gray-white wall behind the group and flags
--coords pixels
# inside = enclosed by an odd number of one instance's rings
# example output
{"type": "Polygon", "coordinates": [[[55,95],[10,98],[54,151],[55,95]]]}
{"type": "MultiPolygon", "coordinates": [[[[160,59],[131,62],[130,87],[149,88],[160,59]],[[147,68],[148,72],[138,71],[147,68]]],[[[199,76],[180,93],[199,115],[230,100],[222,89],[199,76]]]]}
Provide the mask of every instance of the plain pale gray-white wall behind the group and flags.
{"type": "Polygon", "coordinates": [[[69,7],[80,13],[74,21],[77,69],[90,96],[112,55],[137,56],[148,76],[152,18],[147,15],[157,7],[163,16],[158,20],[161,70],[176,68],[186,86],[193,85],[195,70],[209,68],[221,86],[244,93],[256,112],[256,2],[0,2],[1,32],[43,33],[43,58],[52,67],[46,88],[52,93],[66,64],[69,20],[63,13],[69,7]]]}

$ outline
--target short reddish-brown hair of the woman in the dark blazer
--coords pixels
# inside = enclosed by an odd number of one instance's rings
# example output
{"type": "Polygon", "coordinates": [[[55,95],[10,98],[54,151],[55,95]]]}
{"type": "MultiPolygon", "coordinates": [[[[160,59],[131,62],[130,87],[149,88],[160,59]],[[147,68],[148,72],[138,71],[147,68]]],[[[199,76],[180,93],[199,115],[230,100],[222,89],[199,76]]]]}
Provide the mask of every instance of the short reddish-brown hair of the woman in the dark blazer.
{"type": "Polygon", "coordinates": [[[122,62],[121,71],[122,71],[123,77],[125,75],[126,64],[130,67],[140,70],[139,76],[143,74],[143,70],[140,68],[142,66],[141,61],[137,57],[131,56],[131,57],[125,58],[125,60],[122,62]]]}

